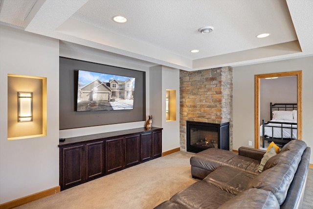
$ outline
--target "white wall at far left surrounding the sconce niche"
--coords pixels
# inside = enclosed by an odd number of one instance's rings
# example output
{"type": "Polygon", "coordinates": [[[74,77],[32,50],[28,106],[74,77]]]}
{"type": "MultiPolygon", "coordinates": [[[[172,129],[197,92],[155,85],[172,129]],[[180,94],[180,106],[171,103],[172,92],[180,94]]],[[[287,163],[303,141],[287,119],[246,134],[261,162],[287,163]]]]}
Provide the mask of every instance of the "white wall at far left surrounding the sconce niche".
{"type": "Polygon", "coordinates": [[[59,40],[0,25],[0,204],[59,185],[59,40]],[[47,136],[7,140],[7,74],[47,78],[47,136]]]}

